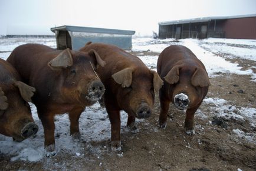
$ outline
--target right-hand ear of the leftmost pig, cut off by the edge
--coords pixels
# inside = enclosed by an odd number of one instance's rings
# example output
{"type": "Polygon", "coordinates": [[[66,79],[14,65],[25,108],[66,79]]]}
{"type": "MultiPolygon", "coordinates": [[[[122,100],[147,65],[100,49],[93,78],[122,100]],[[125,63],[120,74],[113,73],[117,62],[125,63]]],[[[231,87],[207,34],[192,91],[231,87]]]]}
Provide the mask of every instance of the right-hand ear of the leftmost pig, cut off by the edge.
{"type": "Polygon", "coordinates": [[[35,88],[33,88],[21,81],[15,82],[15,86],[18,87],[22,98],[27,102],[31,102],[31,98],[34,95],[35,88]]]}

